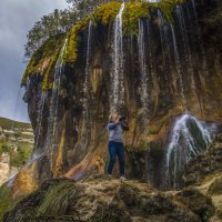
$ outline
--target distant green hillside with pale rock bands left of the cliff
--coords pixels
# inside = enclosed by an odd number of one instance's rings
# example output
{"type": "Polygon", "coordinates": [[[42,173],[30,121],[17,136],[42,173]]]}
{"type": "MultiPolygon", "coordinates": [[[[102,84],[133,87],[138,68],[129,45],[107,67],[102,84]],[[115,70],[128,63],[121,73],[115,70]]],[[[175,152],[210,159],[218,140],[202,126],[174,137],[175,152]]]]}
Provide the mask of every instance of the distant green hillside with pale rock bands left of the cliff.
{"type": "Polygon", "coordinates": [[[0,118],[0,185],[30,160],[33,143],[30,123],[0,118]]]}

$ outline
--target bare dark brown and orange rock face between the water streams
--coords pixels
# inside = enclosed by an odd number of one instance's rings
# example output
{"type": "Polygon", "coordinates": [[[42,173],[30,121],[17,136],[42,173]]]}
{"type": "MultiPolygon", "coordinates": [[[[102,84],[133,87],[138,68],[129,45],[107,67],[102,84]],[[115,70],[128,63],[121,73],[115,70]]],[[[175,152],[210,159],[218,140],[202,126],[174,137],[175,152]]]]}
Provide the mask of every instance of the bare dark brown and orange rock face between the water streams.
{"type": "MultiPolygon", "coordinates": [[[[198,1],[196,4],[199,19],[192,2],[188,1],[174,14],[173,27],[162,26],[157,12],[150,20],[141,19],[149,72],[149,109],[145,117],[149,123],[144,121],[142,101],[140,41],[138,43],[137,36],[123,37],[124,102],[119,110],[128,115],[130,124],[130,131],[124,133],[125,149],[129,151],[127,175],[148,180],[147,157],[150,149],[150,157],[154,160],[152,181],[157,186],[162,184],[160,169],[164,164],[164,152],[161,151],[169,142],[168,135],[175,117],[186,110],[203,121],[222,123],[221,3],[198,1]]],[[[40,134],[37,129],[41,78],[30,79],[26,101],[36,129],[38,145],[34,152],[42,154],[37,163],[40,181],[62,174],[80,179],[91,171],[102,172],[105,169],[105,125],[113,93],[110,74],[113,68],[112,34],[112,24],[104,27],[98,23],[92,27],[89,97],[85,103],[83,87],[89,36],[88,30],[81,32],[78,61],[74,65],[65,64],[60,79],[53,129],[50,129],[53,91],[46,92],[40,134]],[[50,130],[53,135],[49,133],[50,130]]]]}

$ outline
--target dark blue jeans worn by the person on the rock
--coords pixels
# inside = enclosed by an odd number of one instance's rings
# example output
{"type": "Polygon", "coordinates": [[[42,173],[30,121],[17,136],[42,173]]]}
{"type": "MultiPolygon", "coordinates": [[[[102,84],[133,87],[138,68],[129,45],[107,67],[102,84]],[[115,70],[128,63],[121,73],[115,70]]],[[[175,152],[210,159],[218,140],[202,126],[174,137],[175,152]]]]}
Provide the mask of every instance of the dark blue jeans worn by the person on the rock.
{"type": "Polygon", "coordinates": [[[115,157],[118,155],[120,163],[120,176],[124,175],[124,147],[122,142],[109,141],[108,144],[110,153],[110,162],[108,165],[108,174],[112,174],[112,170],[115,162],[115,157]]]}

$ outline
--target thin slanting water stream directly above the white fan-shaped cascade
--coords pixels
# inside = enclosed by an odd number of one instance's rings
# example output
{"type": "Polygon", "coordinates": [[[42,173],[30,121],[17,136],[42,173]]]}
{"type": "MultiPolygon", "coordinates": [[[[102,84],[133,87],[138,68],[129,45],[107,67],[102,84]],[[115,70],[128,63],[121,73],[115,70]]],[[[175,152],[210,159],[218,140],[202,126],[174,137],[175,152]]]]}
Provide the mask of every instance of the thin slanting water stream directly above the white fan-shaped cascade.
{"type": "Polygon", "coordinates": [[[183,89],[183,79],[182,79],[182,67],[179,58],[179,51],[178,51],[178,43],[175,39],[175,31],[174,27],[171,24],[171,32],[172,32],[172,39],[173,39],[173,49],[174,49],[174,60],[175,60],[175,69],[178,72],[178,78],[179,78],[179,85],[180,85],[180,94],[182,99],[182,104],[185,107],[185,97],[184,97],[184,89],[183,89]]]}

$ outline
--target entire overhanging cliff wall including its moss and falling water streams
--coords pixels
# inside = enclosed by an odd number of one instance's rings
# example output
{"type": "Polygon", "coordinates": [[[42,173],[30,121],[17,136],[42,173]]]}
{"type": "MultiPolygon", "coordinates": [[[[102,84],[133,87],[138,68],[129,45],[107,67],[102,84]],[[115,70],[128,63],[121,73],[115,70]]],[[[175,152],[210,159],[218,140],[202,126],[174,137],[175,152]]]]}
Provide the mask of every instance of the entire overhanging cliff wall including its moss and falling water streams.
{"type": "Polygon", "coordinates": [[[221,2],[173,4],[172,17],[164,4],[144,7],[145,16],[133,14],[131,3],[122,11],[118,2],[107,6],[67,39],[60,37],[51,49],[53,53],[42,56],[36,73],[29,73],[24,100],[36,132],[36,178],[80,179],[103,172],[105,125],[109,113],[119,110],[130,124],[124,134],[127,175],[161,186],[176,117],[190,113],[204,121],[210,133],[222,123],[221,2]],[[104,22],[108,9],[114,16],[104,22]],[[70,46],[77,46],[72,57],[67,56],[70,46]]]}

